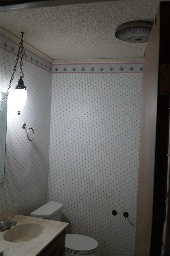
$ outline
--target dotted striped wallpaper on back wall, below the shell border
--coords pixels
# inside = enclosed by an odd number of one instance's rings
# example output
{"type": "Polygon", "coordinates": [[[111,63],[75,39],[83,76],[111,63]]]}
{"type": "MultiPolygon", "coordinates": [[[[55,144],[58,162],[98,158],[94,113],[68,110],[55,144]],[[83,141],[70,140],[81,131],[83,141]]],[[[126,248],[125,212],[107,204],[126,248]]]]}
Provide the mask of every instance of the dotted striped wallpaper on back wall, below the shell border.
{"type": "Polygon", "coordinates": [[[101,255],[134,254],[141,82],[141,73],[52,77],[48,201],[64,204],[68,232],[95,238],[101,255]]]}

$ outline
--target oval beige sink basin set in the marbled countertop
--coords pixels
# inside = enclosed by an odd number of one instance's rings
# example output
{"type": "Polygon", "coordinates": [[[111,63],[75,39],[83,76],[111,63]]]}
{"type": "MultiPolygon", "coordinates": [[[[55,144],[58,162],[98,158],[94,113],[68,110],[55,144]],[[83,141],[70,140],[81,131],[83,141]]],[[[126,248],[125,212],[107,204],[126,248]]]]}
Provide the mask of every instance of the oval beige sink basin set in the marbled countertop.
{"type": "Polygon", "coordinates": [[[3,238],[8,242],[20,243],[27,242],[33,238],[39,237],[42,234],[43,227],[36,223],[27,223],[16,225],[7,229],[3,238]]]}

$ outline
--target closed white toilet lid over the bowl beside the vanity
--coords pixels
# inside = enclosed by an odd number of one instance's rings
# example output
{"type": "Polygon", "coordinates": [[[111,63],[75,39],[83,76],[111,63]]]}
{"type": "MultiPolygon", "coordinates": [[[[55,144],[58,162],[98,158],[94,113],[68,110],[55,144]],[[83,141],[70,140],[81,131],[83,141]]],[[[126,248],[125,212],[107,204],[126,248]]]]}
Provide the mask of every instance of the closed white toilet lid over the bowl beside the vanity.
{"type": "Polygon", "coordinates": [[[98,242],[89,237],[78,234],[66,234],[65,248],[75,252],[93,251],[98,247],[98,242]]]}

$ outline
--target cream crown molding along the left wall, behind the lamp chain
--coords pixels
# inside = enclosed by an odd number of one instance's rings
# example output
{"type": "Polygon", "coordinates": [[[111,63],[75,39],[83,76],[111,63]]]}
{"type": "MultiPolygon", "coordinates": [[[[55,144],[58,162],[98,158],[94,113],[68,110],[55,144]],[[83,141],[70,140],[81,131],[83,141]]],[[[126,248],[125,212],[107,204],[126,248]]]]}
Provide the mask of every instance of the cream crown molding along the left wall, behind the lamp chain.
{"type": "MultiPolygon", "coordinates": [[[[11,32],[7,31],[6,29],[4,29],[2,27],[1,27],[1,34],[6,36],[7,38],[9,38],[10,40],[14,41],[17,44],[21,41],[21,39],[18,36],[15,36],[14,34],[12,34],[11,32]]],[[[39,51],[31,44],[28,44],[26,41],[24,41],[24,48],[26,48],[27,50],[31,51],[32,53],[38,55],[42,59],[44,59],[50,63],[53,63],[53,59],[51,57],[49,57],[48,55],[39,51]]]]}

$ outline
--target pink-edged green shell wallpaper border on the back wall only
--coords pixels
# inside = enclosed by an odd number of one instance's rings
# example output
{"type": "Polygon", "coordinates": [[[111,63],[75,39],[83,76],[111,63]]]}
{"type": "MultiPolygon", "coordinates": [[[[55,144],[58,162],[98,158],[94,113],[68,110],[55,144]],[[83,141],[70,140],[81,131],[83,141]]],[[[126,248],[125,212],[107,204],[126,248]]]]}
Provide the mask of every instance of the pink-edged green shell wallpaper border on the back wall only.
{"type": "Polygon", "coordinates": [[[143,62],[57,63],[53,73],[143,73],[143,62]]]}

